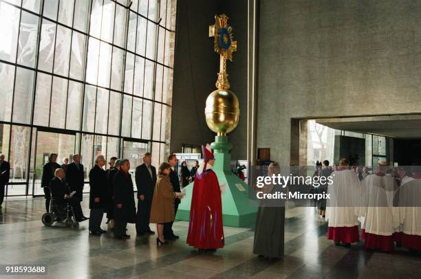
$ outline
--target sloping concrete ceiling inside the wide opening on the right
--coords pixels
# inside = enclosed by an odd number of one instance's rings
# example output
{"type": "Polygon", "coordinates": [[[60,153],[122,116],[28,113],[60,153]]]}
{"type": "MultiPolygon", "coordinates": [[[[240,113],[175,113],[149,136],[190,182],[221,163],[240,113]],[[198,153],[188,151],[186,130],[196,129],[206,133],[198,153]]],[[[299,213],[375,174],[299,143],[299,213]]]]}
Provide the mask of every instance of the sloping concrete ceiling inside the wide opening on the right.
{"type": "Polygon", "coordinates": [[[316,122],[337,130],[385,135],[400,139],[421,139],[421,115],[326,118],[316,120],[316,122]]]}

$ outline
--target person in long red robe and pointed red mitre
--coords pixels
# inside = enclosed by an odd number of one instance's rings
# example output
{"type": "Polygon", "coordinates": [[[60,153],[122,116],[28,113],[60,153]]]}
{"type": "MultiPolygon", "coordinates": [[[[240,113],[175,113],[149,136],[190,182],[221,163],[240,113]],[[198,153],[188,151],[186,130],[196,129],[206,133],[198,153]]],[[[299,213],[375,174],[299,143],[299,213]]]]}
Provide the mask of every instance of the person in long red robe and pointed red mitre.
{"type": "Polygon", "coordinates": [[[199,253],[215,252],[224,247],[221,189],[217,175],[211,169],[215,157],[209,144],[206,148],[202,146],[202,153],[204,166],[195,175],[186,241],[199,249],[199,253]]]}

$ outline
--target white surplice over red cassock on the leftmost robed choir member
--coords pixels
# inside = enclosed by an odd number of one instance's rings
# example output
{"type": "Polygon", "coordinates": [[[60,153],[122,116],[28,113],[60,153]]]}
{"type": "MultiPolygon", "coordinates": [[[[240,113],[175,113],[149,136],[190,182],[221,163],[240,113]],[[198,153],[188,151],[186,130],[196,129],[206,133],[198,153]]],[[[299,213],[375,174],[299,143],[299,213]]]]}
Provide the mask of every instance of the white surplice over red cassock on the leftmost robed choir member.
{"type": "Polygon", "coordinates": [[[342,243],[358,242],[360,180],[348,169],[336,170],[331,176],[333,183],[327,187],[330,194],[326,207],[327,238],[342,243]]]}

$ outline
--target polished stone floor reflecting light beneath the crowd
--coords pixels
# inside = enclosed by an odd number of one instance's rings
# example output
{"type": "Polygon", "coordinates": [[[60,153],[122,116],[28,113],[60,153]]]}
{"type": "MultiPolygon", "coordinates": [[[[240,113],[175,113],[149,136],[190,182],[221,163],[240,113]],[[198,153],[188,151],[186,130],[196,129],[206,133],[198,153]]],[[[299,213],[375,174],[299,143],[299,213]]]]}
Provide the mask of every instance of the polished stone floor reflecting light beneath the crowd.
{"type": "MultiPolygon", "coordinates": [[[[83,207],[88,215],[87,199],[83,207]]],[[[199,255],[185,243],[184,221],[174,223],[178,241],[156,247],[154,236],[136,238],[131,224],[127,241],[109,233],[89,236],[87,221],[78,229],[45,227],[44,199],[8,199],[2,211],[0,265],[47,265],[47,276],[20,278],[421,278],[421,256],[404,249],[385,254],[366,252],[362,243],[334,246],[313,208],[286,211],[285,256],[279,260],[252,254],[252,228],[224,227],[226,247],[199,255]]]]}

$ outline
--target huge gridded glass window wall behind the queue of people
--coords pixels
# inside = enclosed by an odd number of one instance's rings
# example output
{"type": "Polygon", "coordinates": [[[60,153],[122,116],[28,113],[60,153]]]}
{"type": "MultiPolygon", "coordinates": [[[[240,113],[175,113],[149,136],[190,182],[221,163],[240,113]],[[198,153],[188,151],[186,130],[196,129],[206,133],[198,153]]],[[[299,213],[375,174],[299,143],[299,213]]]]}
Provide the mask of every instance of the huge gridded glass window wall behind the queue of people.
{"type": "Polygon", "coordinates": [[[17,193],[48,153],[80,153],[86,172],[99,154],[133,169],[168,155],[176,0],[127,2],[0,0],[0,152],[17,193]]]}

